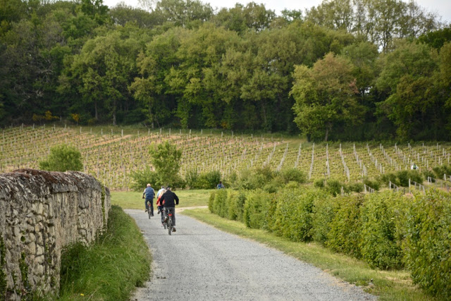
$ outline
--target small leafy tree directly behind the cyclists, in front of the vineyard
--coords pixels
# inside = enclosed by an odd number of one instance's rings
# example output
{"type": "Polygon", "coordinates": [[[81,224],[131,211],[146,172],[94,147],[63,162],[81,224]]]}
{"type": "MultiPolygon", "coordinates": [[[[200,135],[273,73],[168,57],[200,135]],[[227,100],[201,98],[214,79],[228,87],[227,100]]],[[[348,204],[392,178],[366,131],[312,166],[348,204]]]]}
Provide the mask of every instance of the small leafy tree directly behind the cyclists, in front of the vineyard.
{"type": "Polygon", "coordinates": [[[180,178],[178,171],[180,170],[182,151],[177,149],[176,145],[166,141],[159,145],[152,144],[149,154],[160,183],[175,185],[175,182],[178,182],[180,178]]]}

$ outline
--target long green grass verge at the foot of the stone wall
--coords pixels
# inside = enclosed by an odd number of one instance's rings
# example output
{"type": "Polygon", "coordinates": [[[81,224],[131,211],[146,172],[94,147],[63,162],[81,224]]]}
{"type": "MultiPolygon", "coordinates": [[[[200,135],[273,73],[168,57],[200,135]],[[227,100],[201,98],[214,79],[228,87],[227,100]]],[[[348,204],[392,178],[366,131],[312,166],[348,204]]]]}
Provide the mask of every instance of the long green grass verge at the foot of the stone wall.
{"type": "Polygon", "coordinates": [[[104,235],[90,247],[75,244],[63,252],[60,300],[128,300],[148,280],[151,262],[135,221],[113,206],[104,235]]]}

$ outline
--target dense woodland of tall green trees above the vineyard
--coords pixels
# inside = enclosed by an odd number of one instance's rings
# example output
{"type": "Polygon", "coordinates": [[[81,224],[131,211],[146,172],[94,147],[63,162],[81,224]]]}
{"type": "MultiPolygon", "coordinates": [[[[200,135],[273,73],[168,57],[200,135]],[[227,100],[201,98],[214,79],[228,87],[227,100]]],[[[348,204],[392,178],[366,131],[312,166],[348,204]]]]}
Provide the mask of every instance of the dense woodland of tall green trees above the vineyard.
{"type": "Polygon", "coordinates": [[[450,140],[451,27],[415,2],[147,4],[0,0],[0,124],[450,140]]]}

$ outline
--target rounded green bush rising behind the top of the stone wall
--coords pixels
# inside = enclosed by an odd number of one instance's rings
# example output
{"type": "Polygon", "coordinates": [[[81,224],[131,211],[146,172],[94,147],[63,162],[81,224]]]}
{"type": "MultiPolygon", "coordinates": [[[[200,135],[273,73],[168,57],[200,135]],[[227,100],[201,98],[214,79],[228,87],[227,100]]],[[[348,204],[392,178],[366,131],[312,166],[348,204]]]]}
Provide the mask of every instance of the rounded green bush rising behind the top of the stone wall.
{"type": "Polygon", "coordinates": [[[51,147],[47,160],[39,161],[44,171],[82,171],[82,154],[70,145],[51,147]]]}

